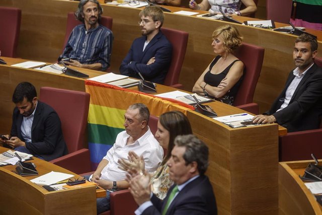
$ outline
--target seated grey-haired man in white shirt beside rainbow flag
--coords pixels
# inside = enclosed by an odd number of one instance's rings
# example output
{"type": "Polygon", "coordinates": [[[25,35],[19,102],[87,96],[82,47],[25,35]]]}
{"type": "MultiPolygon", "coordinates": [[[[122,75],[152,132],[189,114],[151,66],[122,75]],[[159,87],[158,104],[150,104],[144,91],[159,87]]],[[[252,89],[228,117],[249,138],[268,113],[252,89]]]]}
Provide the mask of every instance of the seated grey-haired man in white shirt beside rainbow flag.
{"type": "MultiPolygon", "coordinates": [[[[104,189],[126,189],[129,184],[125,181],[125,171],[118,168],[118,160],[127,159],[128,152],[133,151],[143,156],[145,169],[152,173],[156,170],[163,159],[163,149],[154,138],[147,126],[150,113],[148,108],[141,103],[131,105],[125,112],[125,131],[120,132],[114,146],[107,152],[100,162],[97,170],[90,177],[104,189]]],[[[110,209],[110,192],[106,197],[97,199],[97,213],[110,209]]]]}

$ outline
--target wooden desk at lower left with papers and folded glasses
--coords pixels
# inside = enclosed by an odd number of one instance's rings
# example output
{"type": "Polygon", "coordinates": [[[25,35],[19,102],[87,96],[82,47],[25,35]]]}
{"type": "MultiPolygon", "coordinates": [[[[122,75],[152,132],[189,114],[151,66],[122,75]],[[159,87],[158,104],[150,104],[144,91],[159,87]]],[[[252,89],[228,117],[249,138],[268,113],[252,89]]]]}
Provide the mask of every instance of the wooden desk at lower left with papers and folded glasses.
{"type": "MultiPolygon", "coordinates": [[[[8,149],[0,147],[0,153],[8,149]]],[[[78,175],[52,163],[34,158],[38,176],[51,171],[78,175]]],[[[38,176],[19,176],[16,166],[0,167],[1,214],[96,214],[95,186],[49,192],[30,182],[38,176]]]]}

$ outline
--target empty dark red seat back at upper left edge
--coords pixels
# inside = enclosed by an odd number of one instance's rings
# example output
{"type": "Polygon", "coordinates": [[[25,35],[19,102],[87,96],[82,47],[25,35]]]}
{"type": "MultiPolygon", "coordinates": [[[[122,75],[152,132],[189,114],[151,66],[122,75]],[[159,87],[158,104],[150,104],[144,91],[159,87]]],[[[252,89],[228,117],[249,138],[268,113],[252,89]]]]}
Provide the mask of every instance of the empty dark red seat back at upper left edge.
{"type": "Polygon", "coordinates": [[[2,56],[16,57],[20,33],[21,10],[0,7],[0,51],[2,56]]]}

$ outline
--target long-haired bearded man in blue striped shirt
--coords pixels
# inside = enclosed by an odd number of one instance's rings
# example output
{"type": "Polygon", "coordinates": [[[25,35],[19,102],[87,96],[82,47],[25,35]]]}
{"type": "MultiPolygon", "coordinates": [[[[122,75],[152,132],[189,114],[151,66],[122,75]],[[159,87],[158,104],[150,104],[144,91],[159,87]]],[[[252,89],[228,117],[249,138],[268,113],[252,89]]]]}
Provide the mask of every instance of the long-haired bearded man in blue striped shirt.
{"type": "Polygon", "coordinates": [[[112,31],[98,23],[103,9],[97,0],[81,0],[75,12],[77,25],[58,61],[67,65],[105,71],[110,66],[112,31]]]}

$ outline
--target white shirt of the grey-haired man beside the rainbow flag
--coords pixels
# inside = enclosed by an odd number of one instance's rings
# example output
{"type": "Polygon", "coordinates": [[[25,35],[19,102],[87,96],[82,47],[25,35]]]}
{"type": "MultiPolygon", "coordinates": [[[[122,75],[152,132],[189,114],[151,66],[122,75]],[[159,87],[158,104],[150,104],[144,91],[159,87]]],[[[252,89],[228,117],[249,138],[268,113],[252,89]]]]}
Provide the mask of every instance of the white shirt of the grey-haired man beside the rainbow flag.
{"type": "Polygon", "coordinates": [[[133,144],[126,145],[129,135],[126,131],[120,132],[113,147],[107,152],[103,159],[109,161],[101,172],[101,179],[108,181],[120,181],[125,179],[127,172],[119,168],[117,161],[121,158],[126,160],[129,151],[135,152],[138,156],[143,156],[145,170],[153,173],[163,160],[163,149],[154,138],[150,128],[133,144]]]}

